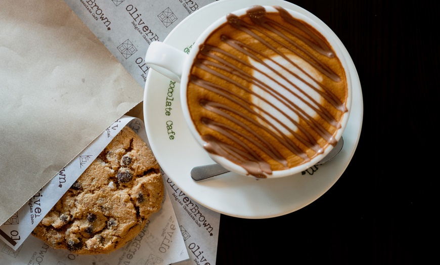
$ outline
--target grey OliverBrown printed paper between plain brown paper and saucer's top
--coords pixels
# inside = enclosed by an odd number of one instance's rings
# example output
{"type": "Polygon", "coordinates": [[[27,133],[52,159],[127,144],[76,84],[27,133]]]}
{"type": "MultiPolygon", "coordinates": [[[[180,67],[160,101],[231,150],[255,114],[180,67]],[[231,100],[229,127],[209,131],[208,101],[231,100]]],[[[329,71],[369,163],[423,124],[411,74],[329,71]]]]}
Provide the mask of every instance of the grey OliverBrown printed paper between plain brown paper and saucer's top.
{"type": "MultiPolygon", "coordinates": [[[[127,71],[145,86],[152,41],[214,0],[64,0],[127,71]]],[[[189,29],[191,30],[191,29],[189,29]]]]}

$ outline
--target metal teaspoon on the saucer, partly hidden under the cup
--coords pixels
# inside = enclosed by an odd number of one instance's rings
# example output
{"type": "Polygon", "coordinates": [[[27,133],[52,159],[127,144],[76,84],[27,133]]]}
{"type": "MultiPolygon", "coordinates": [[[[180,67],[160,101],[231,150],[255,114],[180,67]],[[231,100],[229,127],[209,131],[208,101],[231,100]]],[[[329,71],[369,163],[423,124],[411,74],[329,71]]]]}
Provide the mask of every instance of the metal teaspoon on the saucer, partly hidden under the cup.
{"type": "MultiPolygon", "coordinates": [[[[338,141],[336,146],[328,153],[321,161],[319,161],[316,165],[322,165],[324,163],[327,163],[328,161],[332,160],[339,152],[342,150],[342,146],[344,145],[344,140],[341,139],[338,141]]],[[[224,173],[229,172],[228,169],[224,168],[223,166],[215,163],[215,164],[209,164],[209,165],[201,165],[201,166],[195,166],[191,169],[191,178],[196,181],[204,181],[210,178],[213,178],[214,176],[218,176],[224,173]]]]}

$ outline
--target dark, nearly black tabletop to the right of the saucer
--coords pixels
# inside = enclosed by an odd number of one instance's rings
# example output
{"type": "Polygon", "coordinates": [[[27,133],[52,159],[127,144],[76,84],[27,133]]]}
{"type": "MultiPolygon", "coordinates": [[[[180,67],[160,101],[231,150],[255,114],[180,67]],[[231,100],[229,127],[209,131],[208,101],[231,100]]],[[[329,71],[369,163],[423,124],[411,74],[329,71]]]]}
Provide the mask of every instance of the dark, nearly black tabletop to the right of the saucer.
{"type": "Polygon", "coordinates": [[[435,263],[439,2],[289,2],[323,20],[353,59],[360,142],[312,204],[268,219],[222,215],[217,264],[435,263]]]}

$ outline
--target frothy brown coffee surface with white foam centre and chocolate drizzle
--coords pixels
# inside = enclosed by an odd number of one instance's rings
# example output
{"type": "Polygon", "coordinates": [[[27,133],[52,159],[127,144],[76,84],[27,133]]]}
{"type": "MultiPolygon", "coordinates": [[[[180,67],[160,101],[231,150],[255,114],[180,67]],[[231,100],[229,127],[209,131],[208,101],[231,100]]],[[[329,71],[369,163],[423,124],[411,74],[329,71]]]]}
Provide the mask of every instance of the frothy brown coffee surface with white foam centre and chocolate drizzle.
{"type": "Polygon", "coordinates": [[[199,47],[187,87],[205,150],[257,178],[336,145],[347,112],[345,71],[329,42],[275,8],[227,15],[199,47]]]}

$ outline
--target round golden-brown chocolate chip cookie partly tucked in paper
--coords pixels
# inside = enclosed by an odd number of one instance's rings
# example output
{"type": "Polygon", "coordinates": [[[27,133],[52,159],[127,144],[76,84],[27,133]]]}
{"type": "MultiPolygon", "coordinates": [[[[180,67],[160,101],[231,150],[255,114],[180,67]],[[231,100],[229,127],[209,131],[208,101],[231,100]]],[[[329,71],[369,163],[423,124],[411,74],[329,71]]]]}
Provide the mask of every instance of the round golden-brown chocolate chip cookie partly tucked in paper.
{"type": "Polygon", "coordinates": [[[160,209],[163,189],[153,153],[124,127],[32,235],[72,253],[109,253],[139,234],[160,209]]]}

